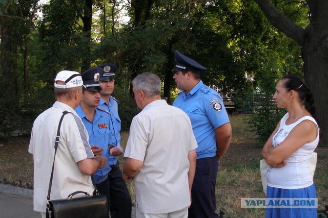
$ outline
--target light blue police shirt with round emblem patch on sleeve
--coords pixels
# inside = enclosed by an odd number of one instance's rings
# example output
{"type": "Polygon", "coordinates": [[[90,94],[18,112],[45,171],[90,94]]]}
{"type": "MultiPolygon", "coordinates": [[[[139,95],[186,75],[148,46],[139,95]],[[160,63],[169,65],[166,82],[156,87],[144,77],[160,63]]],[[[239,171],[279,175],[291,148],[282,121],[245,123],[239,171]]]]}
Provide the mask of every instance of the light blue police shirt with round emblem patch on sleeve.
{"type": "Polygon", "coordinates": [[[200,80],[188,95],[182,91],[173,102],[173,106],[185,111],[191,120],[198,143],[197,159],[214,157],[216,155],[215,130],[230,122],[219,93],[200,80]]]}

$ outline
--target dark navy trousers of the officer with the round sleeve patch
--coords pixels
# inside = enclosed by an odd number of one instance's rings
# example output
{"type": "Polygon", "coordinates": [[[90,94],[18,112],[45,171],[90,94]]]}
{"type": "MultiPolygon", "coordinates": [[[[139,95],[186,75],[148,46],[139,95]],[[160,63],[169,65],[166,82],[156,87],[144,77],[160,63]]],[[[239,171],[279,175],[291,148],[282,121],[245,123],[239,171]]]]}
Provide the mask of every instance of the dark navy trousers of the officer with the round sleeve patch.
{"type": "Polygon", "coordinates": [[[191,189],[191,207],[188,217],[218,218],[215,212],[215,183],[219,163],[218,158],[200,158],[196,161],[196,172],[191,189]]]}

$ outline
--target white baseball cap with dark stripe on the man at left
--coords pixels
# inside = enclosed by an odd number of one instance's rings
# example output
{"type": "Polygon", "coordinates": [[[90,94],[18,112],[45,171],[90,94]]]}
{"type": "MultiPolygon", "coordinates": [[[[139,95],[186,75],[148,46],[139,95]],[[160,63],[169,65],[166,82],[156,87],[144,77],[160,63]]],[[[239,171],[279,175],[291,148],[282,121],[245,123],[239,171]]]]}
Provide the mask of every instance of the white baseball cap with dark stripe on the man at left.
{"type": "Polygon", "coordinates": [[[56,88],[73,88],[83,85],[81,75],[76,71],[70,70],[62,70],[58,72],[54,82],[56,88]],[[56,84],[57,81],[63,81],[66,85],[56,84]]]}

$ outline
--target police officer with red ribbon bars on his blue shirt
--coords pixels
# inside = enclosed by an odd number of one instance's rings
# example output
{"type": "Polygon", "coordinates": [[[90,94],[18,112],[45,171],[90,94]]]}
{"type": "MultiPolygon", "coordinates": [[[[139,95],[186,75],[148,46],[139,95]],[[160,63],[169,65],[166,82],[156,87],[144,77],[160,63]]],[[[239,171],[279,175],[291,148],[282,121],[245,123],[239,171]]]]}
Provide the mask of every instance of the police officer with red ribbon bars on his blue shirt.
{"type": "Polygon", "coordinates": [[[103,68],[100,67],[91,68],[81,73],[83,96],[75,111],[88,131],[89,143],[93,154],[107,158],[105,167],[98,169],[93,175],[93,178],[99,193],[107,196],[108,208],[110,208],[110,183],[108,174],[111,167],[108,159],[109,147],[112,146],[112,138],[110,137],[109,111],[98,107],[101,90],[99,79],[103,74],[103,68]]]}

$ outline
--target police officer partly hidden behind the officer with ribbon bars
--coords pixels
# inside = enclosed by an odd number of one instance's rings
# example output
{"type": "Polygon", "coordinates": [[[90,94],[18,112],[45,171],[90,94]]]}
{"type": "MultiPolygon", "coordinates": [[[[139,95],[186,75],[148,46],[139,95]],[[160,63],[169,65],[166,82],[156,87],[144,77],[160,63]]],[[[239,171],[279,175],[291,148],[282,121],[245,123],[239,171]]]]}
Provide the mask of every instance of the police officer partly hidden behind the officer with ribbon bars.
{"type": "Polygon", "coordinates": [[[113,146],[110,147],[109,164],[112,167],[108,174],[111,192],[111,216],[113,218],[131,217],[131,197],[125,181],[122,178],[122,172],[119,168],[118,156],[122,154],[123,149],[120,146],[121,120],[118,116],[117,100],[113,98],[115,82],[115,64],[103,64],[99,67],[104,69],[104,75],[100,78],[100,84],[103,90],[100,91],[100,108],[109,111],[109,123],[111,128],[111,138],[113,146]]]}

